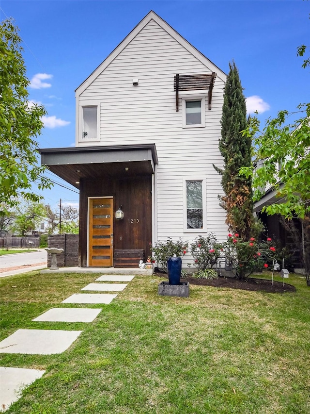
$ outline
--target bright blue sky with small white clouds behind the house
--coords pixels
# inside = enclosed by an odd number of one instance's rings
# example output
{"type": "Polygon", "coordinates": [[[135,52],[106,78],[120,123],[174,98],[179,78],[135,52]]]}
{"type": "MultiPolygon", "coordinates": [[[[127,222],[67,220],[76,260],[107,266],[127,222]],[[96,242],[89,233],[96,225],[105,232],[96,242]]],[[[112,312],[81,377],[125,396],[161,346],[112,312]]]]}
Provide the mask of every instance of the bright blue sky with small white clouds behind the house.
{"type": "MultiPolygon", "coordinates": [[[[310,46],[310,1],[1,0],[0,7],[1,20],[14,17],[20,29],[29,98],[48,112],[40,148],[74,146],[75,89],[150,10],[224,72],[234,60],[248,108],[262,121],[309,102],[309,69],[296,50],[310,46]]],[[[59,185],[43,195],[54,207],[60,198],[78,201],[59,185]]]]}

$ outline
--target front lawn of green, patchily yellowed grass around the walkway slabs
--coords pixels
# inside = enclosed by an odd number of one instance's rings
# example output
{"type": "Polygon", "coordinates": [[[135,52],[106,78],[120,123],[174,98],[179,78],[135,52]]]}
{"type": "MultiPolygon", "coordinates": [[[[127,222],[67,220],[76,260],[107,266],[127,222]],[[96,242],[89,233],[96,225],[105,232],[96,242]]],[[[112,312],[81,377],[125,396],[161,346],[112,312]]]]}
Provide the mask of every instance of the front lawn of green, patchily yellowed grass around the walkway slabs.
{"type": "Polygon", "coordinates": [[[283,295],[191,285],[189,298],[170,298],[157,295],[157,277],[136,276],[111,304],[84,305],[103,308],[90,324],[31,322],[97,276],[0,280],[1,339],[19,328],[83,330],[60,355],[0,355],[2,366],[47,370],[7,413],[310,412],[303,279],[290,275],[297,291],[283,295]]]}

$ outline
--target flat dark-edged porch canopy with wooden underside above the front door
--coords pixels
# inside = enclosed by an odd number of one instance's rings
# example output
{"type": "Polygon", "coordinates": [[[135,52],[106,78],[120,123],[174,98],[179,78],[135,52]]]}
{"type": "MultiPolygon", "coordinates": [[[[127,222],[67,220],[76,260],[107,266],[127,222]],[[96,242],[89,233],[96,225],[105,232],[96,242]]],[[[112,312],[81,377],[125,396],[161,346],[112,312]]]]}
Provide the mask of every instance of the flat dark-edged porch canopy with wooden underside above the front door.
{"type": "Polygon", "coordinates": [[[79,188],[83,178],[150,175],[158,164],[155,144],[39,149],[41,164],[79,188]]]}

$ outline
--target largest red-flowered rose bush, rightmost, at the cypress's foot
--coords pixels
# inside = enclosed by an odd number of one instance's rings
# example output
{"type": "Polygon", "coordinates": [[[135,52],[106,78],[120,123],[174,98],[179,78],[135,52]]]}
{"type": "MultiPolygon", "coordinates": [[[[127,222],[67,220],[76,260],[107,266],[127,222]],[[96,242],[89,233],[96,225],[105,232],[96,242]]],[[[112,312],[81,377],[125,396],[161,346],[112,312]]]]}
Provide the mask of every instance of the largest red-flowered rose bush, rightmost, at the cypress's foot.
{"type": "Polygon", "coordinates": [[[254,271],[267,269],[273,263],[276,248],[272,239],[258,243],[254,237],[244,241],[239,234],[228,234],[227,241],[223,244],[223,252],[226,265],[235,272],[238,279],[247,279],[254,271]]]}

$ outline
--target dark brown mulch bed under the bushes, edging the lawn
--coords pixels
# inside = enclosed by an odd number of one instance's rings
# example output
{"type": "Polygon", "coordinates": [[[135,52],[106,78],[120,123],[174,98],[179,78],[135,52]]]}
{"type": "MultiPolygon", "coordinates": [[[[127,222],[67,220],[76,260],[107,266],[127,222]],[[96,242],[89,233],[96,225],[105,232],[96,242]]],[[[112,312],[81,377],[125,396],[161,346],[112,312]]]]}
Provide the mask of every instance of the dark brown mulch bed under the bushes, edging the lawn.
{"type": "MultiPolygon", "coordinates": [[[[165,277],[168,279],[167,273],[155,272],[156,276],[161,278],[165,277]]],[[[231,289],[242,289],[249,291],[263,291],[268,293],[285,293],[285,292],[296,292],[295,286],[291,284],[273,281],[265,279],[248,278],[247,281],[239,281],[235,278],[223,278],[218,279],[196,279],[193,277],[181,278],[181,282],[189,282],[190,284],[197,284],[203,286],[214,286],[214,287],[229,287],[231,289]]]]}

